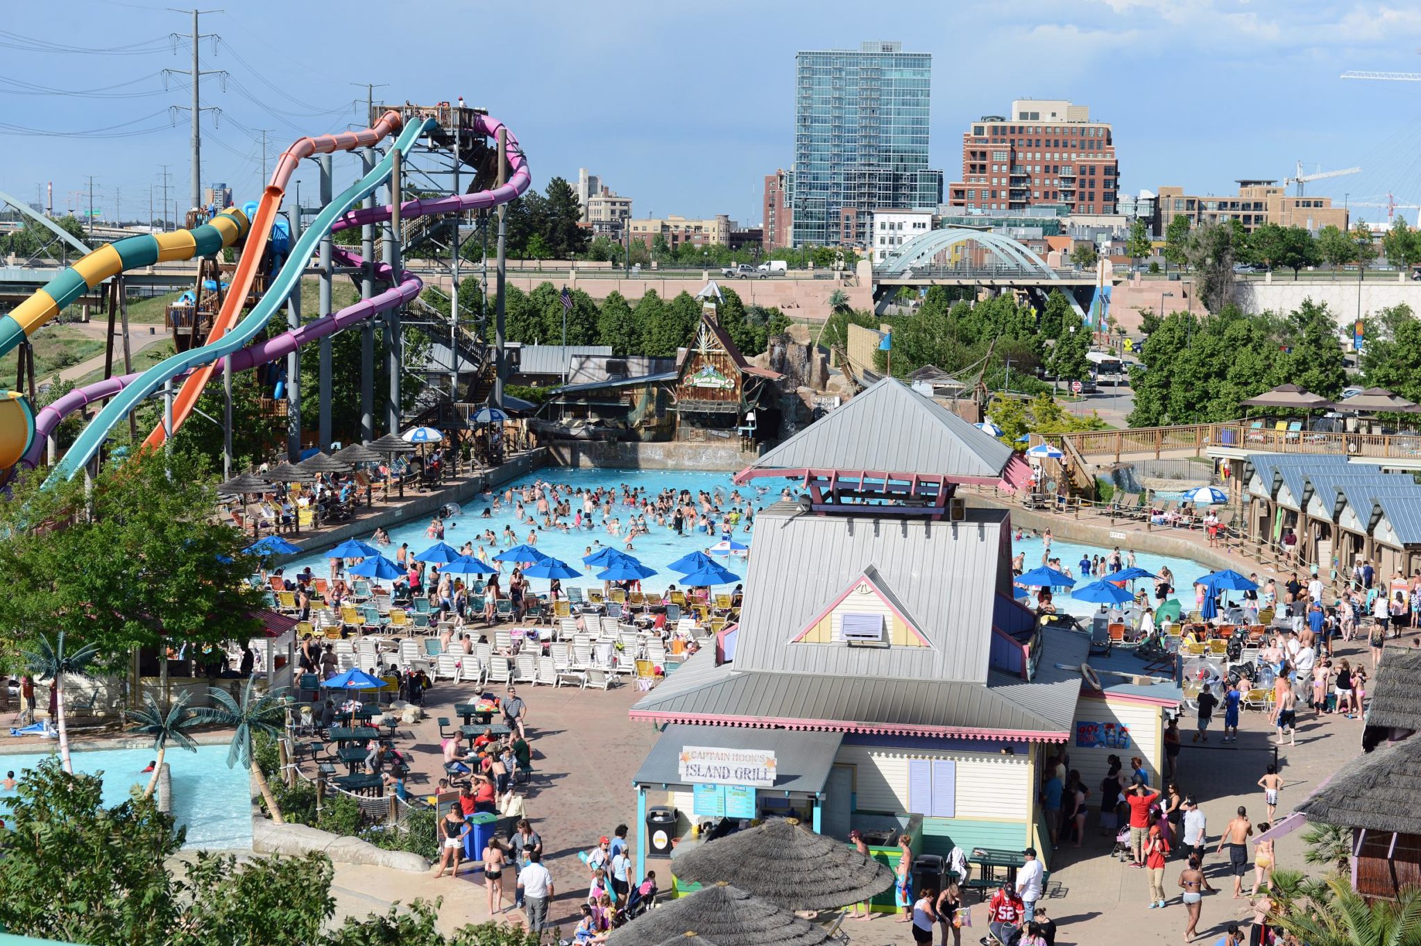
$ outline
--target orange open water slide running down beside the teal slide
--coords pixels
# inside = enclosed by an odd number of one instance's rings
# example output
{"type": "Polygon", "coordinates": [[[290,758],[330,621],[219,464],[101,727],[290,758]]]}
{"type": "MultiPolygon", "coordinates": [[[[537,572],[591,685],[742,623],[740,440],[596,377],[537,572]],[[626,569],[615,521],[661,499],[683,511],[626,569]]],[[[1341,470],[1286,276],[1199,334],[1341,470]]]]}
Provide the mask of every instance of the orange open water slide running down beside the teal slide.
{"type": "MultiPolygon", "coordinates": [[[[379,121],[377,121],[371,128],[354,132],[341,132],[338,135],[300,138],[281,153],[281,158],[276,162],[276,169],[271,172],[271,182],[266,186],[266,190],[261,193],[261,200],[257,203],[256,216],[252,219],[252,232],[247,234],[246,247],[242,250],[242,259],[237,261],[237,268],[232,274],[227,295],[222,301],[222,311],[217,312],[217,317],[212,322],[212,332],[207,335],[209,345],[222,338],[242,315],[247,295],[252,293],[252,286],[256,281],[257,270],[261,266],[261,257],[266,253],[267,240],[271,236],[271,224],[276,222],[277,210],[281,209],[281,200],[286,196],[286,185],[291,180],[291,175],[296,173],[301,161],[310,158],[311,155],[330,155],[337,151],[369,148],[387,135],[392,135],[399,131],[402,125],[404,118],[401,114],[395,109],[389,109],[381,115],[379,121]]],[[[301,266],[304,264],[306,261],[303,260],[301,266]]],[[[297,291],[300,291],[300,283],[297,284],[297,291]]],[[[182,388],[173,398],[173,430],[182,426],[182,422],[186,420],[193,408],[198,406],[198,398],[202,395],[203,388],[207,386],[207,382],[212,379],[216,368],[216,362],[203,365],[193,371],[188,376],[188,381],[183,382],[182,388]]],[[[165,439],[166,430],[163,429],[163,425],[159,423],[153,428],[153,432],[148,435],[148,439],[144,440],[144,446],[158,447],[162,446],[165,439]]]]}

